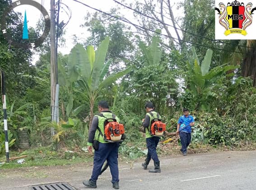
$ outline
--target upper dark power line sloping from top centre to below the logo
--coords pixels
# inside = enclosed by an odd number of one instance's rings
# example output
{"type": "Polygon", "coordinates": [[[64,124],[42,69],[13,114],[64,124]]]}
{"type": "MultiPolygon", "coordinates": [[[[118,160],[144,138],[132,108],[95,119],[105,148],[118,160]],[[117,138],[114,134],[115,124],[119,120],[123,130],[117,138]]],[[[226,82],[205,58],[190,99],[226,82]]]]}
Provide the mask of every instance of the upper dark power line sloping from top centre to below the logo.
{"type": "MultiPolygon", "coordinates": [[[[206,39],[206,40],[216,41],[216,42],[219,42],[219,43],[222,43],[222,44],[230,44],[230,45],[233,45],[233,44],[228,43],[228,42],[223,42],[223,41],[221,41],[221,40],[210,39],[210,38],[204,37],[204,36],[202,36],[202,35],[198,35],[198,34],[194,34],[194,33],[189,32],[189,31],[182,30],[181,28],[174,27],[174,26],[172,26],[172,25],[170,25],[170,24],[167,24],[167,23],[165,23],[165,22],[162,22],[162,21],[160,21],[160,20],[158,20],[158,19],[156,19],[156,18],[150,17],[149,15],[147,15],[147,14],[145,14],[145,13],[142,13],[142,12],[136,10],[136,9],[132,9],[131,7],[129,7],[129,6],[125,5],[125,4],[122,4],[122,3],[120,3],[120,2],[117,1],[117,0],[113,0],[113,1],[116,2],[117,4],[120,4],[120,5],[124,6],[124,7],[126,7],[127,9],[133,10],[134,12],[139,13],[139,14],[141,14],[141,15],[147,17],[147,18],[150,18],[150,19],[153,19],[154,21],[160,22],[160,23],[163,24],[163,25],[167,25],[167,26],[169,26],[169,27],[173,27],[173,28],[175,28],[175,29],[177,29],[177,30],[183,31],[183,32],[185,32],[185,33],[189,33],[189,34],[191,34],[191,35],[195,35],[195,36],[200,37],[200,38],[204,38],[204,39],[206,39]]],[[[237,45],[237,46],[239,46],[239,47],[244,47],[244,48],[252,48],[252,47],[248,47],[248,46],[244,46],[244,45],[237,45]]]]}

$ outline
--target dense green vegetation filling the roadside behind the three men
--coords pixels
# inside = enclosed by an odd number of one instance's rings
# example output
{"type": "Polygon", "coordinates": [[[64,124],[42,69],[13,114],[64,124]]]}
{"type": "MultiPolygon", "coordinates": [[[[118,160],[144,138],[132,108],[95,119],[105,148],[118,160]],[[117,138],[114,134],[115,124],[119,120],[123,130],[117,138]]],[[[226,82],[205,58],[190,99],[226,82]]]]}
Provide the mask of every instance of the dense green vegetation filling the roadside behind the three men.
{"type": "MultiPolygon", "coordinates": [[[[9,5],[8,1],[0,2],[1,17],[9,5]]],[[[214,1],[200,6],[196,6],[196,2],[188,0],[179,5],[186,10],[182,29],[200,36],[207,34],[207,38],[214,39],[214,25],[209,25],[214,16],[205,11],[213,7],[214,1]],[[197,19],[191,19],[194,17],[197,19]]],[[[150,4],[154,2],[150,1],[150,4]]],[[[153,14],[157,6],[137,2],[134,7],[157,17],[153,14]]],[[[112,9],[110,13],[120,14],[118,9],[112,9]]],[[[16,31],[22,32],[21,23],[15,18],[16,15],[9,15],[9,22],[16,26],[16,31]]],[[[48,146],[51,149],[52,142],[56,142],[61,150],[81,151],[86,146],[89,123],[101,99],[109,102],[111,110],[125,124],[128,143],[120,151],[130,158],[144,155],[141,149],[144,137],[139,129],[145,115],[144,103],[148,100],[162,115],[168,132],[176,131],[182,108],[188,108],[195,118],[192,133],[195,143],[229,147],[250,147],[256,143],[255,78],[243,71],[248,64],[255,64],[255,59],[248,59],[249,54],[224,51],[235,50],[238,44],[246,42],[236,40],[219,44],[186,33],[183,40],[213,48],[188,43],[174,45],[176,42],[171,38],[159,34],[167,32],[166,26],[150,25],[150,20],[145,18],[140,21],[157,33],[148,31],[135,35],[129,25],[117,19],[108,19],[100,13],[88,14],[83,27],[91,36],[76,39],[78,44],[69,55],[58,54],[59,124],[50,122],[49,49],[41,49],[40,59],[32,66],[32,52],[14,47],[8,49],[8,42],[0,33],[0,64],[6,73],[10,149],[18,149],[18,133],[25,130],[31,147],[48,146]],[[52,127],[56,130],[53,137],[52,127]]],[[[248,40],[247,44],[255,47],[256,42],[248,40]]],[[[2,107],[0,112],[3,113],[2,107]]],[[[1,114],[1,155],[5,152],[3,130],[1,114]]],[[[47,154],[58,156],[52,152],[47,154]]],[[[41,159],[39,157],[37,159],[41,159]]]]}

